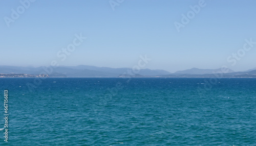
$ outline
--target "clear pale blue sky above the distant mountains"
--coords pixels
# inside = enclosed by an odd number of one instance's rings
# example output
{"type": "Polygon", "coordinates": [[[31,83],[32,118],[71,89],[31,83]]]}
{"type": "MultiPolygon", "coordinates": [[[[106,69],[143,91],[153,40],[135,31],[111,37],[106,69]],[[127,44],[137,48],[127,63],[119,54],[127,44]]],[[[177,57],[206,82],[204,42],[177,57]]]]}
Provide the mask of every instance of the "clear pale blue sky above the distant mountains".
{"type": "Polygon", "coordinates": [[[191,11],[189,6],[198,4],[198,0],[124,0],[113,10],[109,0],[37,0],[30,6],[26,3],[27,8],[20,1],[2,0],[0,65],[48,66],[57,60],[60,65],[133,67],[140,55],[147,54],[152,60],[146,68],[170,72],[222,65],[236,71],[256,67],[256,44],[236,65],[227,61],[243,49],[245,39],[256,42],[256,1],[207,0],[178,32],[174,22],[181,23],[182,14],[191,11]],[[8,27],[6,17],[12,19],[12,9],[21,14],[8,27]],[[87,39],[61,61],[57,52],[80,33],[87,39]]]}

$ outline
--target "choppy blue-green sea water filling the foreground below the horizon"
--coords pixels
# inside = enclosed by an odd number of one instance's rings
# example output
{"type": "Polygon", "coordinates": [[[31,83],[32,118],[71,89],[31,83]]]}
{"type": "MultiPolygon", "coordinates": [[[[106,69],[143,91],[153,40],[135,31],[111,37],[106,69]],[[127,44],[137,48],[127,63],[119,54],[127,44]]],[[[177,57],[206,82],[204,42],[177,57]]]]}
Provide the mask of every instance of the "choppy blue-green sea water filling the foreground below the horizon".
{"type": "Polygon", "coordinates": [[[255,78],[38,79],[0,79],[0,145],[256,145],[255,78]]]}

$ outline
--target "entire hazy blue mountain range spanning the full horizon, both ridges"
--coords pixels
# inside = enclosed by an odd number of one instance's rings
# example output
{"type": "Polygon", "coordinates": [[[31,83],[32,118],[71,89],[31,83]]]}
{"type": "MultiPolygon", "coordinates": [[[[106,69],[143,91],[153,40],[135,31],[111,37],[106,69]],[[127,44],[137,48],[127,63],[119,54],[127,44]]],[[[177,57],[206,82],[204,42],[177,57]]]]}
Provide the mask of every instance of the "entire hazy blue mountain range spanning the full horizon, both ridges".
{"type": "Polygon", "coordinates": [[[218,74],[221,77],[256,77],[256,68],[246,71],[235,72],[229,68],[218,69],[199,69],[191,68],[186,70],[176,71],[173,74],[165,70],[140,69],[133,71],[132,68],[110,68],[97,67],[89,65],[78,66],[58,66],[53,67],[19,67],[19,66],[0,66],[0,74],[39,74],[49,75],[49,77],[163,77],[163,78],[210,78],[216,77],[218,74]],[[225,70],[225,72],[223,72],[225,70]]]}

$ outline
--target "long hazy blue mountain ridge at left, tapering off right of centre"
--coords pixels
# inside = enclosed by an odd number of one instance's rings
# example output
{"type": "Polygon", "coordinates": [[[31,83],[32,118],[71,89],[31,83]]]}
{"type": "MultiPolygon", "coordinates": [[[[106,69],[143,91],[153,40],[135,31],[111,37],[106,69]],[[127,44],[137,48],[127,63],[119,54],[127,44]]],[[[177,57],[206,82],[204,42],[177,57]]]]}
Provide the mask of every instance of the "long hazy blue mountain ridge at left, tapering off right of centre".
{"type": "Polygon", "coordinates": [[[110,68],[96,67],[88,65],[78,66],[59,66],[53,67],[18,67],[18,66],[0,66],[0,74],[30,74],[39,75],[46,72],[49,77],[119,77],[119,76],[135,76],[139,73],[140,76],[158,76],[169,75],[170,72],[165,70],[140,69],[134,71],[132,68],[110,68]]]}

